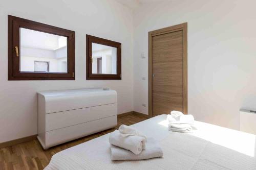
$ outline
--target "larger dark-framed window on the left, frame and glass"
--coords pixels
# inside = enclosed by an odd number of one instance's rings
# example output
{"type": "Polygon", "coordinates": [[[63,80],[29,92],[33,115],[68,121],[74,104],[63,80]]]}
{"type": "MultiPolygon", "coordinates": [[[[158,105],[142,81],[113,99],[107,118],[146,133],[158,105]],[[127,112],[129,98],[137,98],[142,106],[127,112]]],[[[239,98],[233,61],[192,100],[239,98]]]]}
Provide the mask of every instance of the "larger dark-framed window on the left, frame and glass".
{"type": "Polygon", "coordinates": [[[75,32],[8,19],[9,80],[75,80],[75,32]]]}

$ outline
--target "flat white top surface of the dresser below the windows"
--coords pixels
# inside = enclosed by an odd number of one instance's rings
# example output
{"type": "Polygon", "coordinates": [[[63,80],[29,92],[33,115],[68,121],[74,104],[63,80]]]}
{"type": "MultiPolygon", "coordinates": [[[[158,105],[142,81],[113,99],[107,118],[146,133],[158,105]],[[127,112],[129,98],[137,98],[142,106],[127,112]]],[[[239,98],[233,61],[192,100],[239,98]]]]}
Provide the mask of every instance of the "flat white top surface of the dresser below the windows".
{"type": "Polygon", "coordinates": [[[89,93],[116,93],[115,90],[103,89],[103,88],[91,88],[91,89],[73,89],[73,90],[56,90],[56,91],[38,91],[38,94],[44,96],[57,96],[57,95],[67,95],[67,94],[89,94],[89,93]]]}

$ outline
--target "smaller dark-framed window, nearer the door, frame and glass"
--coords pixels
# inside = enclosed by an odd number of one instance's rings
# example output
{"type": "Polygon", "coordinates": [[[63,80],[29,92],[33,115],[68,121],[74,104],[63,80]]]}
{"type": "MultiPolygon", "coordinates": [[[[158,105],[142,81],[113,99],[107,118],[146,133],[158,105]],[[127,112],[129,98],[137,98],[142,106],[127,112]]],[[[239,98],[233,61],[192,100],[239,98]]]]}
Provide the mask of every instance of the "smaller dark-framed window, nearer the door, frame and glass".
{"type": "Polygon", "coordinates": [[[121,79],[121,43],[87,35],[87,79],[121,79]]]}

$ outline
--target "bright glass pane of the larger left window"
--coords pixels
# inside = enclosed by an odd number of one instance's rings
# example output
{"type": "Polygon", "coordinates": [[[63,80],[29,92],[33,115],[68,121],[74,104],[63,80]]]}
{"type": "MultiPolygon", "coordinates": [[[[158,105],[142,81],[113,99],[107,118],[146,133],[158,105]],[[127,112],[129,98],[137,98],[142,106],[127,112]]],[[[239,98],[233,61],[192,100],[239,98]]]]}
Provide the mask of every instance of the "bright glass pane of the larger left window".
{"type": "Polygon", "coordinates": [[[67,37],[20,28],[20,71],[67,72],[67,37]]]}

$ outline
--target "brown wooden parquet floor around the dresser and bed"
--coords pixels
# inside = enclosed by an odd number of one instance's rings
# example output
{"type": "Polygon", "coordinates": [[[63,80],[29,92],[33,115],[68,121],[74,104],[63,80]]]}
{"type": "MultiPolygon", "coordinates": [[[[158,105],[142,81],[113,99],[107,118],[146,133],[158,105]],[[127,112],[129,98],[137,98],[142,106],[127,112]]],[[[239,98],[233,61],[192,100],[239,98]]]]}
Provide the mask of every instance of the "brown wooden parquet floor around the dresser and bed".
{"type": "MultiPolygon", "coordinates": [[[[146,118],[144,116],[138,114],[125,115],[118,118],[117,127],[122,124],[133,125],[145,119],[146,118]]],[[[11,147],[2,148],[0,149],[0,169],[44,169],[54,154],[77,144],[110,133],[116,128],[73,140],[71,142],[63,143],[46,151],[42,149],[40,143],[36,139],[16,144],[11,147]]]]}

